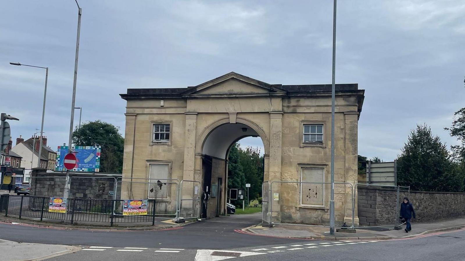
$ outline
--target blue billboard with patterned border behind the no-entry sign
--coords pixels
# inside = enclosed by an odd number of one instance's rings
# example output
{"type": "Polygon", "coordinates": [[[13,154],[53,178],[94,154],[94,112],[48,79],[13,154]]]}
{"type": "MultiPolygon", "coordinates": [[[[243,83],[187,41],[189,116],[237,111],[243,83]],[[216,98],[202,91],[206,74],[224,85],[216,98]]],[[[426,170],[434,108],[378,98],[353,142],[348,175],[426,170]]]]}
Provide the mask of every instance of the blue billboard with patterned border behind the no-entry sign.
{"type": "MultiPolygon", "coordinates": [[[[73,171],[99,172],[100,169],[100,146],[74,146],[71,148],[78,162],[73,171]]],[[[66,171],[63,166],[63,158],[68,153],[68,146],[58,146],[56,171],[66,171]]]]}

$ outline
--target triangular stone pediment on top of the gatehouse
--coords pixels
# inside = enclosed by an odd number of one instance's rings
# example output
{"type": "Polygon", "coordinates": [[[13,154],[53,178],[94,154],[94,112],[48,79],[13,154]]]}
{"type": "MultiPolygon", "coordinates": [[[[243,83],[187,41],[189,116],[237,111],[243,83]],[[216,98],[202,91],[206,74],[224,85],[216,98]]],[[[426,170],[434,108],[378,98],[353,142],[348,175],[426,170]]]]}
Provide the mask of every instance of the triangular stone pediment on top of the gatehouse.
{"type": "Polygon", "coordinates": [[[189,90],[184,93],[184,96],[260,96],[270,93],[279,95],[285,94],[285,91],[239,73],[230,72],[200,85],[189,87],[189,90]]]}

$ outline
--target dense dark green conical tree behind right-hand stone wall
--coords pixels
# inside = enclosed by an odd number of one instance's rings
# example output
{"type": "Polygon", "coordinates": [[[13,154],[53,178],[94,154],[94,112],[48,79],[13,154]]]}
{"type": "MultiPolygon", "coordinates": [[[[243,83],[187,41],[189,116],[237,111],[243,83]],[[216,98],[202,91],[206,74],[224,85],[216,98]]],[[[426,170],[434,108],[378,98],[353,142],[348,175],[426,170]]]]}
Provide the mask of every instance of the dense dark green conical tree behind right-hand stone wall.
{"type": "Polygon", "coordinates": [[[445,144],[426,124],[411,131],[398,166],[399,185],[425,191],[463,190],[463,178],[454,171],[445,144]]]}

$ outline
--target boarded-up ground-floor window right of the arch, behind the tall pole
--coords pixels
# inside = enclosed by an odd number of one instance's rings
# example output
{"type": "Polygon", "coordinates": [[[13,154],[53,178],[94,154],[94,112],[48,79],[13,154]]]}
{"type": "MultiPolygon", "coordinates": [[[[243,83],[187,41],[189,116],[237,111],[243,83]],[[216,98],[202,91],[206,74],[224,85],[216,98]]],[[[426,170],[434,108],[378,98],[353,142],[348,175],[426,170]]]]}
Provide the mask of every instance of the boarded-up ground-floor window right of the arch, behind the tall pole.
{"type": "Polygon", "coordinates": [[[301,168],[300,204],[303,206],[325,205],[325,169],[324,168],[301,168]],[[318,184],[320,183],[320,184],[318,184]]]}

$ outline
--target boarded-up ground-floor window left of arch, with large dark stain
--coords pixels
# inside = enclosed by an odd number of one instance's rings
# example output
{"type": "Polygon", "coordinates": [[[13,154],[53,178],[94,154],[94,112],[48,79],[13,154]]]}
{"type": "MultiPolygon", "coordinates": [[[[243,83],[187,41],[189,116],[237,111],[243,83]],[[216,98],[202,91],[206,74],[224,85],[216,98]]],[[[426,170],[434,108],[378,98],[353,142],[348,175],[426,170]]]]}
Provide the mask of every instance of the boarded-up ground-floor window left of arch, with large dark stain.
{"type": "Polygon", "coordinates": [[[168,164],[151,164],[150,165],[150,184],[148,188],[148,197],[155,199],[168,198],[168,164]]]}

